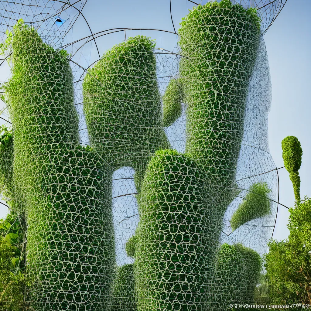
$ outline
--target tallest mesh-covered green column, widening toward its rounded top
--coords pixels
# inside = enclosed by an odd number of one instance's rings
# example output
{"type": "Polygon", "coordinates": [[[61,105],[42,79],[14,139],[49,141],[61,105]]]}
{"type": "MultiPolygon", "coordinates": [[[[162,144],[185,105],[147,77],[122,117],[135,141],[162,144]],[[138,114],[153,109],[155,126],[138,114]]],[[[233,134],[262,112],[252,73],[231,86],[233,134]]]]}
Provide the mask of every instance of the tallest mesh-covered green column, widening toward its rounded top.
{"type": "Polygon", "coordinates": [[[260,20],[255,9],[230,0],[207,2],[183,18],[179,35],[186,152],[200,161],[223,201],[234,184],[260,20]]]}

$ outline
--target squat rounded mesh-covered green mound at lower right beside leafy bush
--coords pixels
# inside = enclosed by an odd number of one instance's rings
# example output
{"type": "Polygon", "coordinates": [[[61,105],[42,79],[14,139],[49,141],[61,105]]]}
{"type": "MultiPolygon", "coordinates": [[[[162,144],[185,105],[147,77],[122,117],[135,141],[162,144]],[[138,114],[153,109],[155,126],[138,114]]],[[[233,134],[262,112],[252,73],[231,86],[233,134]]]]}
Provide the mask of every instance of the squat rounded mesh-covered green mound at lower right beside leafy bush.
{"type": "Polygon", "coordinates": [[[262,270],[260,255],[242,244],[221,245],[218,253],[213,310],[228,305],[253,304],[256,285],[262,270]]]}

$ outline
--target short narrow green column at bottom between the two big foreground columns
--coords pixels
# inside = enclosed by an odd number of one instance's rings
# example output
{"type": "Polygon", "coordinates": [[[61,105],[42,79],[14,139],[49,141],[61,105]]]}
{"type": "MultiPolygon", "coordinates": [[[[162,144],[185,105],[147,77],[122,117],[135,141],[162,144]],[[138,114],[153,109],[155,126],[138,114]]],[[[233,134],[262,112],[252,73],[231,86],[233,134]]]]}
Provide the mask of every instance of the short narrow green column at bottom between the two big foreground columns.
{"type": "Polygon", "coordinates": [[[118,267],[113,283],[111,310],[136,311],[134,290],[134,264],[118,267]]]}

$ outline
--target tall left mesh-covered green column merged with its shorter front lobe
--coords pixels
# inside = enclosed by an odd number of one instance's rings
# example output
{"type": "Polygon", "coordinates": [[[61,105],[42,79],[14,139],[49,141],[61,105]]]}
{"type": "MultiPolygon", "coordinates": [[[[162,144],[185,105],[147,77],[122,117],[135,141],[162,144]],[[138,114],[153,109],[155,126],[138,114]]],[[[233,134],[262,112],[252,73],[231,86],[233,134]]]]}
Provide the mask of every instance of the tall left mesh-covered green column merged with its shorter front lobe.
{"type": "Polygon", "coordinates": [[[31,306],[102,310],[115,256],[111,176],[90,148],[78,145],[67,53],[44,44],[22,21],[7,44],[14,195],[27,217],[31,306]]]}

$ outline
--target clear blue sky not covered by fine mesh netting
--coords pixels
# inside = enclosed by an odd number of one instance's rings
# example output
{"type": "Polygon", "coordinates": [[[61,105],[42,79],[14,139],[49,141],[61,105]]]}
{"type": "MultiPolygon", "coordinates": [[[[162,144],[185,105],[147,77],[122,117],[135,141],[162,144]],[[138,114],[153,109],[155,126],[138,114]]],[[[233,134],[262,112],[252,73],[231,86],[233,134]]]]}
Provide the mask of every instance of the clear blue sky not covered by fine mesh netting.
{"type": "MultiPolygon", "coordinates": [[[[169,0],[99,1],[88,0],[83,14],[93,32],[105,29],[153,28],[174,31],[169,11],[169,0]]],[[[181,17],[193,4],[187,0],[172,0],[173,21],[176,30],[181,17]]],[[[288,0],[284,9],[264,36],[269,57],[272,80],[272,106],[269,114],[269,144],[276,167],[283,166],[281,140],[287,135],[297,136],[303,149],[301,195],[310,195],[310,0],[288,0]]],[[[88,27],[79,18],[74,26],[73,39],[89,35],[88,27]]],[[[143,34],[157,39],[157,47],[174,49],[176,35],[160,31],[128,31],[127,36],[143,34]]],[[[100,54],[124,39],[124,33],[106,35],[98,39],[100,54]]],[[[86,45],[83,54],[96,60],[96,49],[86,45]]],[[[2,67],[3,68],[3,67],[2,67]]],[[[3,75],[3,72],[2,72],[3,75]]],[[[1,76],[2,76],[1,75],[1,76]]],[[[6,74],[4,73],[4,76],[6,74]]],[[[3,81],[3,80],[2,80],[3,81]]],[[[279,170],[280,202],[288,207],[294,204],[294,194],[285,169],[279,170]]],[[[0,207],[0,216],[5,210],[0,207]]],[[[281,240],[288,235],[286,224],[289,213],[279,207],[274,238],[281,240]]]]}

